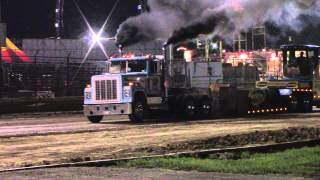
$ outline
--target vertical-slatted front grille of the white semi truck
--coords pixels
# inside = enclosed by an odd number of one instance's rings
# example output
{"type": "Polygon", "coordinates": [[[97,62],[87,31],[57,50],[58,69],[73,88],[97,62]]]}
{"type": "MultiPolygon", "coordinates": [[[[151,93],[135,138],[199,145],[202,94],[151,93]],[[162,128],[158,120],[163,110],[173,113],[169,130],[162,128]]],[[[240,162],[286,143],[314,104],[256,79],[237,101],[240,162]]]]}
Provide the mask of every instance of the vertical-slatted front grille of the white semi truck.
{"type": "Polygon", "coordinates": [[[95,87],[97,101],[118,99],[117,80],[96,80],[95,87]]]}

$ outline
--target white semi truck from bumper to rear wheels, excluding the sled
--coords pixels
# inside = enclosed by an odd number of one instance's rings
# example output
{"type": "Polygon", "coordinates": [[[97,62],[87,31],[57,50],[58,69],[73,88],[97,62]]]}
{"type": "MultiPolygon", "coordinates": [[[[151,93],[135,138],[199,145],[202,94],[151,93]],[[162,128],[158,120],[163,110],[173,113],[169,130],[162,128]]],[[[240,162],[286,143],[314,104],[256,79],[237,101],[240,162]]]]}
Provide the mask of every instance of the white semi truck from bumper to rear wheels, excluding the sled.
{"type": "Polygon", "coordinates": [[[108,72],[93,76],[85,89],[84,114],[93,123],[105,115],[121,114],[141,121],[152,109],[189,117],[196,112],[209,115],[210,84],[222,79],[220,62],[166,63],[163,56],[112,58],[108,72]]]}

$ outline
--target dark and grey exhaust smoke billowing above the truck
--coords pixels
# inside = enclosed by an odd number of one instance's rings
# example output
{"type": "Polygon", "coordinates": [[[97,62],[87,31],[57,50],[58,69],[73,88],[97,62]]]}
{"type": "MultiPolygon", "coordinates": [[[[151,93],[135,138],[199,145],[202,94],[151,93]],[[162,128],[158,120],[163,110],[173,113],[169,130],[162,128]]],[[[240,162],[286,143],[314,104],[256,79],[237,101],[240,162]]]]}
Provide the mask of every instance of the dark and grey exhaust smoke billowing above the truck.
{"type": "Polygon", "coordinates": [[[120,25],[118,44],[175,43],[199,34],[231,40],[234,33],[266,23],[295,32],[320,24],[320,0],[148,0],[148,7],[120,25]]]}

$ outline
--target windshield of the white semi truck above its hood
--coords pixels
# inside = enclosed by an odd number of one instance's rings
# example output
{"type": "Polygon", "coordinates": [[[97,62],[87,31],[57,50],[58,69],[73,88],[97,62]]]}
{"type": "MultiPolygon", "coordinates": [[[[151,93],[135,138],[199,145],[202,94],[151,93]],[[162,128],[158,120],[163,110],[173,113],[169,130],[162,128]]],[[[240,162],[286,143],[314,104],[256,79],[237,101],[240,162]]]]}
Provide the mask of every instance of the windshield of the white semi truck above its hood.
{"type": "Polygon", "coordinates": [[[113,61],[110,66],[110,73],[134,73],[147,72],[147,61],[129,60],[129,61],[113,61]]]}

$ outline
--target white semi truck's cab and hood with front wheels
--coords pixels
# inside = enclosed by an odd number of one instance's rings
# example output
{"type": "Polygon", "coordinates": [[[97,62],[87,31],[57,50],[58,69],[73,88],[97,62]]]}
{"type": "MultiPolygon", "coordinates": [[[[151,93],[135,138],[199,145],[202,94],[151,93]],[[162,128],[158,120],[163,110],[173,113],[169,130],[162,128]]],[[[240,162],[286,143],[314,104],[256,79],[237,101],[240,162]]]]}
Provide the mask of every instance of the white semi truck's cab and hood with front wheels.
{"type": "Polygon", "coordinates": [[[132,121],[146,113],[146,104],[161,104],[162,56],[125,55],[111,58],[107,72],[91,78],[84,90],[84,114],[92,123],[105,115],[129,115],[132,121]]]}

